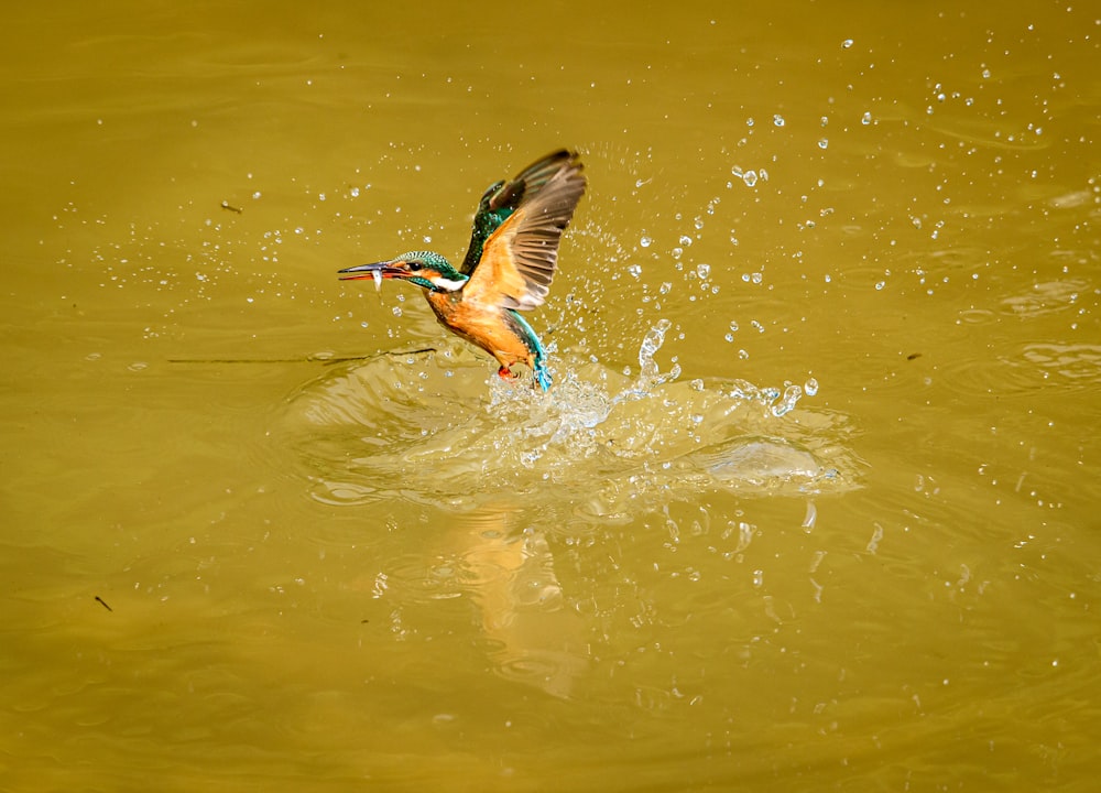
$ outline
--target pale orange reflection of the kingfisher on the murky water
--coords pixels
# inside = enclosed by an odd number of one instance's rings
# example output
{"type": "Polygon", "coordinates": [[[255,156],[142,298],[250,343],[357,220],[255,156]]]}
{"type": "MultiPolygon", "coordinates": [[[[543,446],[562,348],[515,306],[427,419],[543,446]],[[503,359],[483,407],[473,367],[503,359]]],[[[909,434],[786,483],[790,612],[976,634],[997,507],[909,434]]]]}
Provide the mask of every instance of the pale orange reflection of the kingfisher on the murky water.
{"type": "Polygon", "coordinates": [[[481,609],[497,672],[568,697],[588,663],[585,623],[563,595],[546,536],[519,521],[492,504],[459,518],[462,583],[481,609]]]}

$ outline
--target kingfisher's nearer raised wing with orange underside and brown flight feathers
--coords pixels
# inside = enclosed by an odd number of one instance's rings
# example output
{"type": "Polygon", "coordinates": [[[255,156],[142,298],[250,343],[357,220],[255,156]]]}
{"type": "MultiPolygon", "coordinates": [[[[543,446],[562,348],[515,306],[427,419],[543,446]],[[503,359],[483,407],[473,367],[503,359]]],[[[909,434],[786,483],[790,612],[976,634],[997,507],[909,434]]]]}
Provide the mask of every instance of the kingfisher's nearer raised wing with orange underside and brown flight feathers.
{"type": "Polygon", "coordinates": [[[486,240],[481,258],[462,287],[465,298],[519,311],[543,304],[558,263],[562,232],[585,193],[585,174],[576,153],[552,154],[524,174],[542,176],[549,167],[554,171],[543,176],[542,186],[525,193],[486,240]]]}

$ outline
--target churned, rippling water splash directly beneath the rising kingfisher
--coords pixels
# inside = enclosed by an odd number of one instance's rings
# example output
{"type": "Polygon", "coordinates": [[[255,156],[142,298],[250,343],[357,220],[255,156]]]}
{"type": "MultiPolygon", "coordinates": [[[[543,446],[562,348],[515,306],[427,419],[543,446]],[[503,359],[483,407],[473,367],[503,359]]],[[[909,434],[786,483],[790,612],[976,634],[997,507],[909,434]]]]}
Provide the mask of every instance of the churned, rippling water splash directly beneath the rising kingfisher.
{"type": "Polygon", "coordinates": [[[657,361],[671,328],[662,319],[646,332],[633,379],[571,361],[546,394],[495,377],[487,389],[473,355],[383,356],[308,383],[284,425],[315,497],[334,503],[506,498],[608,520],[716,489],[852,486],[839,416],[787,420],[807,392],[797,384],[678,380],[679,366],[657,361]]]}

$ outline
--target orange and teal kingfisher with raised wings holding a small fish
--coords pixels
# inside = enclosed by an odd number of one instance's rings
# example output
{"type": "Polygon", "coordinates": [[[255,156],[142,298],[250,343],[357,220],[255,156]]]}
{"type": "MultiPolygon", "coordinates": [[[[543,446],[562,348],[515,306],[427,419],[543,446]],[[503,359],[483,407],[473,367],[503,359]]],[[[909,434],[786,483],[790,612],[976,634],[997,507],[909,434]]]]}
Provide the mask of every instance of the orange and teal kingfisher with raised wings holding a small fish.
{"type": "Polygon", "coordinates": [[[340,280],[374,279],[381,289],[383,279],[399,279],[421,286],[439,324],[493,356],[503,380],[521,377],[513,367],[524,365],[547,391],[546,350],[519,312],[543,305],[562,232],[585,185],[578,153],[556,151],[486,189],[458,270],[439,253],[419,250],[346,268],[340,280]]]}

